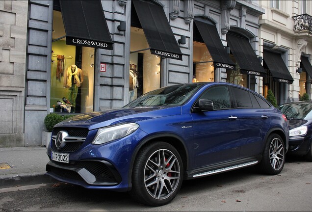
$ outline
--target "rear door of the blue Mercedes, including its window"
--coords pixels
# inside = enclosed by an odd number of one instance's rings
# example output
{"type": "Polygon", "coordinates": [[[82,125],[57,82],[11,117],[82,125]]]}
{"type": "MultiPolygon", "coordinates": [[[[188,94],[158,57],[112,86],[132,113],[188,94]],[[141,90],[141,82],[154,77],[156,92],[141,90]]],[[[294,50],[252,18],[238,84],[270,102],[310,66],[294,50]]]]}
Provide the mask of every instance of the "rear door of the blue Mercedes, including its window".
{"type": "Polygon", "coordinates": [[[270,127],[270,107],[264,100],[247,90],[231,87],[234,105],[240,120],[240,159],[261,154],[263,139],[270,127]],[[262,108],[259,102],[262,101],[262,108]]]}

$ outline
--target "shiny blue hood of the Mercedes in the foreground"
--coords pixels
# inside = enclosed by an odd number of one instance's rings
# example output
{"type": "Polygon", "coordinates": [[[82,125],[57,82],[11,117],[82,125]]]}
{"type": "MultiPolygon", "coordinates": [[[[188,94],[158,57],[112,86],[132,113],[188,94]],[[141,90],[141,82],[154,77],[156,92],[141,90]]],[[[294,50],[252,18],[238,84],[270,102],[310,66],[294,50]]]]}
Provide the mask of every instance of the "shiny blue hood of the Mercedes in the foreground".
{"type": "Polygon", "coordinates": [[[55,127],[82,127],[89,130],[130,122],[139,122],[147,119],[181,114],[181,106],[144,106],[111,109],[98,112],[79,114],[66,119],[55,127]]]}

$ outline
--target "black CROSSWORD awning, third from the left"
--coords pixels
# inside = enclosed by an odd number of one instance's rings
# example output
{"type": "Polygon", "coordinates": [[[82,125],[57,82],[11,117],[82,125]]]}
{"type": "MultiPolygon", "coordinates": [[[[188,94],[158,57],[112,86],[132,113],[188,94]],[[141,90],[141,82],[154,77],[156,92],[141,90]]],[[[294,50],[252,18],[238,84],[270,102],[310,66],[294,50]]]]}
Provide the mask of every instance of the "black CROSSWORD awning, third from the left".
{"type": "Polygon", "coordinates": [[[235,69],[235,63],[231,60],[230,56],[222,44],[217,28],[198,20],[194,23],[206,44],[208,51],[212,57],[215,68],[235,69]]]}

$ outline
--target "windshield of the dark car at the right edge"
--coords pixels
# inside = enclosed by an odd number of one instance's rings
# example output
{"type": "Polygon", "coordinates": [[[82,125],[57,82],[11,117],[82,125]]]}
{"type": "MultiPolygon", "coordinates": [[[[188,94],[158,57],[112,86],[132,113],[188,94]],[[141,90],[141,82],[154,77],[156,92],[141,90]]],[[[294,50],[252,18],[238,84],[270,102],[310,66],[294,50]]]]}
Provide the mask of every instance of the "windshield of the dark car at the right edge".
{"type": "Polygon", "coordinates": [[[281,105],[278,107],[288,119],[312,118],[312,103],[298,102],[296,104],[281,105]]]}

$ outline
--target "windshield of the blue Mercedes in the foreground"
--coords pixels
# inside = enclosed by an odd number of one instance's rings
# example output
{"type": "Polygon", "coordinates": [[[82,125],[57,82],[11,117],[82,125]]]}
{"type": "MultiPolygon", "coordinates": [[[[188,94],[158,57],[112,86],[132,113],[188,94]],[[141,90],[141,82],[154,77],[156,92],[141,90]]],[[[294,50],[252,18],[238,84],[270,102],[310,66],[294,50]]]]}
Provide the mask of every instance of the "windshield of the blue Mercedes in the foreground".
{"type": "Polygon", "coordinates": [[[180,106],[201,87],[202,84],[178,84],[148,92],[124,107],[136,106],[180,106]]]}

